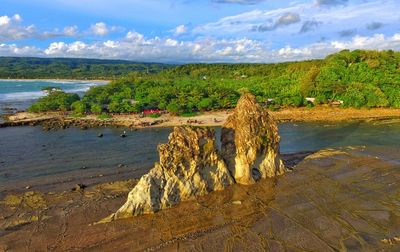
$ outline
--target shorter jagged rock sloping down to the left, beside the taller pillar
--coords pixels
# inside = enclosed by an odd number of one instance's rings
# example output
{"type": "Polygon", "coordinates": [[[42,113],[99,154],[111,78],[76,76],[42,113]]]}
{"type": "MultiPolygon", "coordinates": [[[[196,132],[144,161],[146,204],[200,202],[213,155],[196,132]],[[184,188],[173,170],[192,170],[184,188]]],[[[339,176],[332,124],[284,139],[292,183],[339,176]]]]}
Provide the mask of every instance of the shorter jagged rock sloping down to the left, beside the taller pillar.
{"type": "Polygon", "coordinates": [[[158,151],[159,163],[140,179],[111,219],[154,213],[234,183],[212,129],[175,127],[158,151]]]}

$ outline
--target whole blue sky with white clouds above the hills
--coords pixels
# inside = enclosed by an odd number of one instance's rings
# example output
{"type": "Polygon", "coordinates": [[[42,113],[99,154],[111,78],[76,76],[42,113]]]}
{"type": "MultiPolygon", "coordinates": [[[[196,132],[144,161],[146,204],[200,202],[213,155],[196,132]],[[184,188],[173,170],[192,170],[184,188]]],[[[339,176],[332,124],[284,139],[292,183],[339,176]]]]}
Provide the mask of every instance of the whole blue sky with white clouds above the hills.
{"type": "Polygon", "coordinates": [[[400,0],[2,0],[0,56],[138,62],[400,50],[400,0]]]}

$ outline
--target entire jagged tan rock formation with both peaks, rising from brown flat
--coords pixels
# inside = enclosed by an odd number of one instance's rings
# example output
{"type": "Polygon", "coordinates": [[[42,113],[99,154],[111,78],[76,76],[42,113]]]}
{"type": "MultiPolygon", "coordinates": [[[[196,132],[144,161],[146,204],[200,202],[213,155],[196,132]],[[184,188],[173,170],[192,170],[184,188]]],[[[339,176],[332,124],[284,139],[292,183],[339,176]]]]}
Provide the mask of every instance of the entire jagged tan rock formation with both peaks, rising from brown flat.
{"type": "Polygon", "coordinates": [[[210,128],[175,127],[158,147],[160,161],[107,218],[118,219],[169,208],[231,184],[252,184],[284,172],[277,126],[251,94],[244,94],[222,129],[222,155],[210,128]]]}

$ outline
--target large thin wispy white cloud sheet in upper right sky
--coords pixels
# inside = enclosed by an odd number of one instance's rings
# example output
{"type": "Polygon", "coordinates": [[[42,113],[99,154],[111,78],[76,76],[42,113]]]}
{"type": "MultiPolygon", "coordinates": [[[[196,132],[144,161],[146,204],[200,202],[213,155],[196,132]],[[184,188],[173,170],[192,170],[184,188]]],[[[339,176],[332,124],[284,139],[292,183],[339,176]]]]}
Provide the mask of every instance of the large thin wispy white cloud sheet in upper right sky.
{"type": "Polygon", "coordinates": [[[398,30],[395,27],[400,25],[399,15],[393,11],[400,8],[398,0],[359,1],[357,4],[349,2],[338,6],[339,2],[344,1],[319,1],[322,5],[336,4],[332,8],[319,8],[315,2],[309,1],[272,10],[255,9],[197,25],[192,29],[192,34],[225,38],[240,34],[281,44],[289,41],[311,43],[321,37],[335,39],[344,28],[357,29],[360,35],[371,35],[372,29],[367,29],[366,23],[372,21],[390,24],[393,30],[398,30]]]}

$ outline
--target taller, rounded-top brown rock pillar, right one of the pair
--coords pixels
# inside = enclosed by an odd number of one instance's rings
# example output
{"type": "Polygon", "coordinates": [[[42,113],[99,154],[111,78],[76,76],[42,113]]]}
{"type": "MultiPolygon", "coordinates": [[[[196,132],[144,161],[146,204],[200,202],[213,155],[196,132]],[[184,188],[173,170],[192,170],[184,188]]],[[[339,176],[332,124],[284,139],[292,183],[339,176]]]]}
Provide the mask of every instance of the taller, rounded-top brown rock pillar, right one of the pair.
{"type": "Polygon", "coordinates": [[[239,184],[284,173],[279,154],[278,128],[273,118],[245,93],[222,128],[222,156],[239,184]]]}

